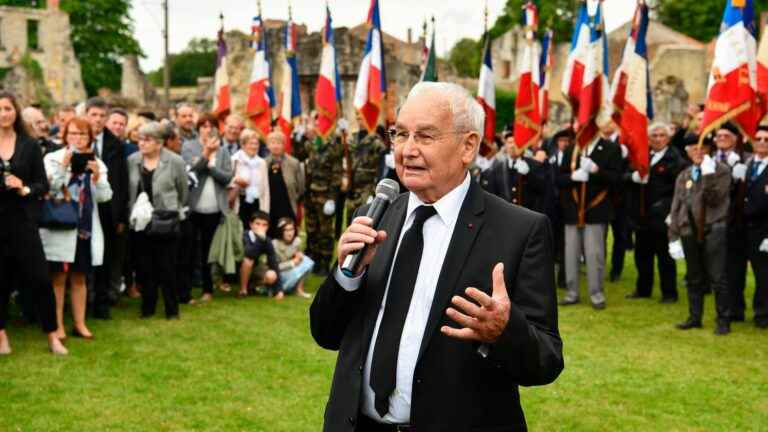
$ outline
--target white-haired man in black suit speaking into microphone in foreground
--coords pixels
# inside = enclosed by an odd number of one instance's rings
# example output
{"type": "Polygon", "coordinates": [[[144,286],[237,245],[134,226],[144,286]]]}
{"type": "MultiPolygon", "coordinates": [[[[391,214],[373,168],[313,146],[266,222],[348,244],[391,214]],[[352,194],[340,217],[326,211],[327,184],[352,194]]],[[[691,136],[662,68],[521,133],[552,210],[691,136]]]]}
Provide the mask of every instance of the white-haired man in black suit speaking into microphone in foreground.
{"type": "Polygon", "coordinates": [[[419,83],[401,108],[411,192],[379,231],[353,220],[338,258],[372,245],[362,270],[336,266],[310,308],[317,343],[339,351],[325,431],[525,430],[518,385],[562,371],[549,222],[470,181],[483,123],[454,84],[419,83]]]}

